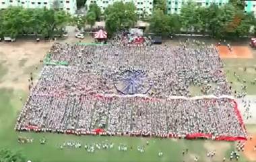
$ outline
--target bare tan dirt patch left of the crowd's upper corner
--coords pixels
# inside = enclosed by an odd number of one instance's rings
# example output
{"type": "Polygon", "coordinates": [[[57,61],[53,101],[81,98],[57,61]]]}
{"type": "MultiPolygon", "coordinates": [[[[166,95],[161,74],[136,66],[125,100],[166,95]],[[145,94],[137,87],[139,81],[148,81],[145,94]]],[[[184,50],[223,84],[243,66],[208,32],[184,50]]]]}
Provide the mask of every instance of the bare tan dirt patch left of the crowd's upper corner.
{"type": "Polygon", "coordinates": [[[0,42],[0,63],[5,71],[0,88],[14,88],[28,91],[30,73],[40,70],[40,60],[50,49],[53,42],[0,42]]]}

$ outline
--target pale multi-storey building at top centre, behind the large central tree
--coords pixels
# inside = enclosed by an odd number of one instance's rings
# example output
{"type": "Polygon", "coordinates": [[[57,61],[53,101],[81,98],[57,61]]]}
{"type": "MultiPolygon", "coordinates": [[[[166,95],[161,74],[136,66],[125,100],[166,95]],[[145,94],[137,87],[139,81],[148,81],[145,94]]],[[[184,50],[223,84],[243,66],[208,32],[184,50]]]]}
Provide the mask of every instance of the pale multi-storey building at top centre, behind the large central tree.
{"type": "Polygon", "coordinates": [[[89,8],[90,4],[96,3],[104,11],[108,5],[112,5],[115,1],[133,2],[140,16],[143,16],[145,13],[151,15],[153,11],[153,0],[87,0],[86,6],[89,8]]]}

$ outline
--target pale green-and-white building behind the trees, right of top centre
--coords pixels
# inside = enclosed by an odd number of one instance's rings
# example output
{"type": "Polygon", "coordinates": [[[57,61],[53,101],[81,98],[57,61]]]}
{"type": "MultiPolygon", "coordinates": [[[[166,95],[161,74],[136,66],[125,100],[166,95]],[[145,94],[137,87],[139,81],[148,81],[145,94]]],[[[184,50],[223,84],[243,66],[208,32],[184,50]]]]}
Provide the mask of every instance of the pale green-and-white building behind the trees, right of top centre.
{"type": "MultiPolygon", "coordinates": [[[[181,13],[181,7],[184,3],[187,3],[189,0],[166,0],[167,13],[181,13]]],[[[198,5],[203,7],[209,7],[212,4],[216,4],[219,6],[228,3],[228,0],[193,0],[198,5]]]]}

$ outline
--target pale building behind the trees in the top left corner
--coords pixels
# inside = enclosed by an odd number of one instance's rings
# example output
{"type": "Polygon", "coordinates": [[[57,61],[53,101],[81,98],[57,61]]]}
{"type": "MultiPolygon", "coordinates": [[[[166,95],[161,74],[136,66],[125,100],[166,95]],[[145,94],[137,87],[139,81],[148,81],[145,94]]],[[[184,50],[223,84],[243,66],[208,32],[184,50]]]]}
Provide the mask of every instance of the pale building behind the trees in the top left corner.
{"type": "Polygon", "coordinates": [[[24,8],[47,8],[58,7],[71,14],[75,14],[77,9],[76,0],[0,0],[0,9],[10,6],[20,6],[24,8]]]}

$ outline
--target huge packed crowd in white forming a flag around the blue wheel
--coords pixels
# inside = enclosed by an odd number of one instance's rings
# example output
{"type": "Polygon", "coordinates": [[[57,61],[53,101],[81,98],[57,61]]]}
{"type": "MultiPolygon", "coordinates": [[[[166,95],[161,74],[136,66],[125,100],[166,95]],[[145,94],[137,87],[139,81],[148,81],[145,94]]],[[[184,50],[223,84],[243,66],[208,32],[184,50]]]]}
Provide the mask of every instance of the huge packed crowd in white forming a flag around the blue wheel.
{"type": "Polygon", "coordinates": [[[232,99],[170,98],[190,97],[191,86],[205,86],[205,94],[230,95],[214,46],[54,44],[49,54],[51,61],[69,65],[43,67],[16,130],[95,134],[100,128],[108,135],[246,136],[232,99]],[[131,69],[146,74],[142,80],[151,86],[147,97],[125,97],[117,91],[119,76],[131,69]],[[111,94],[121,97],[106,97],[111,94]]]}

